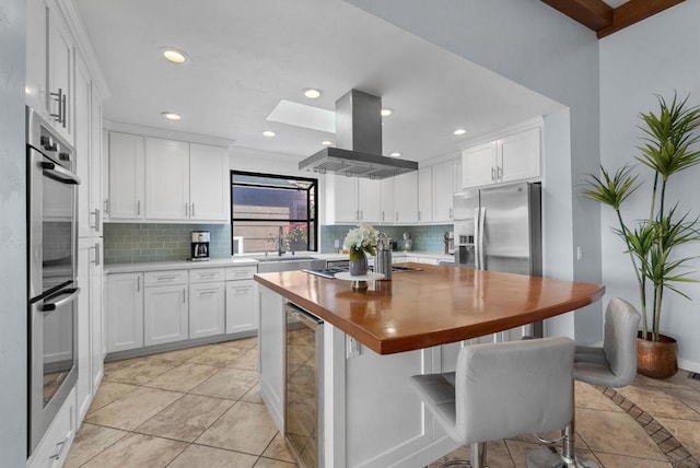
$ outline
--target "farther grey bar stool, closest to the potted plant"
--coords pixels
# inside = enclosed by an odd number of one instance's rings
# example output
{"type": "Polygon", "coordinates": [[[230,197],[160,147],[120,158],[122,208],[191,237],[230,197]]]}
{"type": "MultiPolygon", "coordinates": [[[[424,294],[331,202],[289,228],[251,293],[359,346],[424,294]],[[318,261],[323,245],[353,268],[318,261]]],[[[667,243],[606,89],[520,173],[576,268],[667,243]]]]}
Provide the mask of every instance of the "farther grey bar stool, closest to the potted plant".
{"type": "MultiPolygon", "coordinates": [[[[641,316],[629,302],[615,297],[605,312],[603,347],[578,346],[573,378],[593,385],[619,388],[629,385],[637,375],[637,330],[641,316]]],[[[528,467],[595,467],[574,453],[575,418],[562,434],[562,453],[530,452],[528,467]],[[547,458],[547,460],[546,460],[547,458]]],[[[545,441],[547,442],[547,441],[545,441]]]]}

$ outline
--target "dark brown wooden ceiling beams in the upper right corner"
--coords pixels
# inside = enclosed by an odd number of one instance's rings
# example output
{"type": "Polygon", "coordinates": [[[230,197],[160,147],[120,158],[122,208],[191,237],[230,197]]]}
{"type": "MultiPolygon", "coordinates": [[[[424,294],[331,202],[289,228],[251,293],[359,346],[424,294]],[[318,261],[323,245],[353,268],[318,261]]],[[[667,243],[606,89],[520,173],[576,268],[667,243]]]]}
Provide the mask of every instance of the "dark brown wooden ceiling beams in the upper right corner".
{"type": "Polygon", "coordinates": [[[615,9],[603,0],[541,1],[595,31],[599,39],[685,0],[629,0],[615,9]]]}

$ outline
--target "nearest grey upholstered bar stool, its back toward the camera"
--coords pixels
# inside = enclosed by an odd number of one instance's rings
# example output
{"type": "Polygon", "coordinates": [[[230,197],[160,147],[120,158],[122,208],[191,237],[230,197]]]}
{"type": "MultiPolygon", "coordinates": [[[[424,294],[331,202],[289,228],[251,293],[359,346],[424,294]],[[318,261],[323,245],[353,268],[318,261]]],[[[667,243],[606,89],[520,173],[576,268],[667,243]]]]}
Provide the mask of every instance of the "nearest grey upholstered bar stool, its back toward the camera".
{"type": "Polygon", "coordinates": [[[459,351],[456,372],[411,383],[447,434],[469,444],[471,467],[482,468],[486,442],[569,424],[574,348],[564,337],[474,344],[459,351]]]}

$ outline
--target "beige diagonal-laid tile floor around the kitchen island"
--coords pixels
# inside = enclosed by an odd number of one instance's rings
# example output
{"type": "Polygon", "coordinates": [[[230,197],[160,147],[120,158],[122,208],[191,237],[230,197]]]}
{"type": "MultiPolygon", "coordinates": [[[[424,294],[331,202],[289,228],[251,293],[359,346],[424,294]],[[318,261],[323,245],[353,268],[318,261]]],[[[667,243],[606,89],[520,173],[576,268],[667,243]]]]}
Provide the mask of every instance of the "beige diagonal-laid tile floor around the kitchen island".
{"type": "MultiPolygon", "coordinates": [[[[294,467],[256,366],[255,338],[105,364],[66,467],[294,467]]],[[[700,381],[679,371],[617,391],[576,383],[576,432],[578,452],[600,467],[698,467],[700,381]]],[[[534,445],[529,435],[489,443],[489,465],[525,467],[534,445]]],[[[468,449],[430,467],[453,457],[468,449]]]]}

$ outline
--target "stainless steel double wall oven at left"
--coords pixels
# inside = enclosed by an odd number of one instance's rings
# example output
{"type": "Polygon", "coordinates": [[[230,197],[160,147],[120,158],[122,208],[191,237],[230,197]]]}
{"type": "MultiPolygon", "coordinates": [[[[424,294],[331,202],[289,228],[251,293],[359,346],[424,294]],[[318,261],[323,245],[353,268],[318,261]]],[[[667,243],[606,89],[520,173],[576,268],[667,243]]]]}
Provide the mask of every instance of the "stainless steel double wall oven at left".
{"type": "Polygon", "coordinates": [[[78,379],[78,185],[73,150],[26,109],[28,454],[78,379]]]}

